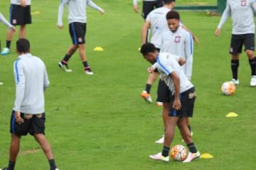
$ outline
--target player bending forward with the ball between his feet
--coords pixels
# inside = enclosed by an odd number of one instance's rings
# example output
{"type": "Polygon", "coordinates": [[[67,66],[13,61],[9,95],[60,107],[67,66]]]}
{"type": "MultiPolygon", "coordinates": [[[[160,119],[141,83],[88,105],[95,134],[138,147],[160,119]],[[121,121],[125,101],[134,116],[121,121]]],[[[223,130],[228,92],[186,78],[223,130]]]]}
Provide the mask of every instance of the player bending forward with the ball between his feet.
{"type": "Polygon", "coordinates": [[[159,154],[150,155],[151,159],[169,162],[169,151],[171,142],[174,138],[175,126],[181,132],[184,142],[188,146],[188,157],[183,162],[191,162],[193,159],[200,157],[200,152],[193,143],[191,132],[188,129],[187,121],[193,116],[193,105],[196,99],[196,91],[178,64],[176,57],[167,52],[158,52],[156,47],[151,43],[146,43],[141,47],[143,57],[154,64],[149,68],[149,72],[157,69],[161,79],[171,91],[171,107],[166,120],[166,130],[164,135],[164,147],[159,154]]]}

